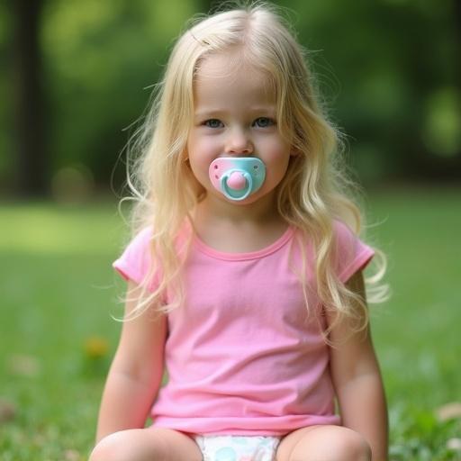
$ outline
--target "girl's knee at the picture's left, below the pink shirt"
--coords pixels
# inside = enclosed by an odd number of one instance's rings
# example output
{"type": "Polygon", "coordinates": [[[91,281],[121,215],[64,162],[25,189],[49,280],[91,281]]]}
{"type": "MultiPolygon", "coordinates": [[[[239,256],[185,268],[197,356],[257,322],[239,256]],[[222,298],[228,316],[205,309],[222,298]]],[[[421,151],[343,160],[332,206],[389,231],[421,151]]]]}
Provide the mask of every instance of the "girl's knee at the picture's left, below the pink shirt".
{"type": "Polygon", "coordinates": [[[129,429],[103,438],[89,461],[202,461],[202,453],[192,438],[176,430],[129,429]]]}

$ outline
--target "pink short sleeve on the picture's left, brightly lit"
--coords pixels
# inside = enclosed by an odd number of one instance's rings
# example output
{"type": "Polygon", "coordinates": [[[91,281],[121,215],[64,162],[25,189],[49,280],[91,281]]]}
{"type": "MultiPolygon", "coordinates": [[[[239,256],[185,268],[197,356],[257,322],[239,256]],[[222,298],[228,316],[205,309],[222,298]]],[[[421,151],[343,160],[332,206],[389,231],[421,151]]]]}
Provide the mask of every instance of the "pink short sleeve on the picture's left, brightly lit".
{"type": "Polygon", "coordinates": [[[122,256],[113,262],[113,268],[125,280],[131,280],[138,285],[147,283],[149,290],[153,290],[158,281],[158,277],[151,274],[152,258],[149,248],[151,236],[152,227],[141,230],[128,244],[122,256]]]}

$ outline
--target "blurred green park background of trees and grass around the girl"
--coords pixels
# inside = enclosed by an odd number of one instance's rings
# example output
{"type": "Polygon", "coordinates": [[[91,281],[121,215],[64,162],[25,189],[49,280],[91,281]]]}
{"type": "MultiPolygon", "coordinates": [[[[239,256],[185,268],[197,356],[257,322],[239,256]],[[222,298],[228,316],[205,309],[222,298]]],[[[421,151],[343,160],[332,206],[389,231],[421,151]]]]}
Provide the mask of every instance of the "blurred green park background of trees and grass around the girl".
{"type": "MultiPolygon", "coordinates": [[[[393,460],[461,459],[461,5],[274,2],[309,50],[393,297],[393,460]]],[[[0,458],[86,459],[116,347],[125,153],[199,0],[0,3],[0,458]]]]}

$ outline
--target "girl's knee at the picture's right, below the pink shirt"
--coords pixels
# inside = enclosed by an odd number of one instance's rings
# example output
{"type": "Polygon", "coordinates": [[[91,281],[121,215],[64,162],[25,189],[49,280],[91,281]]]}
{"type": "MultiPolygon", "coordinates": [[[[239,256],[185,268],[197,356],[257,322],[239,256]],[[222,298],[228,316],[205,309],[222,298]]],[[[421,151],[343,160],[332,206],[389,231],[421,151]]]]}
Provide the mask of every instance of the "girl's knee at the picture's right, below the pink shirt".
{"type": "Polygon", "coordinates": [[[276,461],[370,461],[371,448],[358,432],[341,426],[312,426],[282,439],[276,461]]]}

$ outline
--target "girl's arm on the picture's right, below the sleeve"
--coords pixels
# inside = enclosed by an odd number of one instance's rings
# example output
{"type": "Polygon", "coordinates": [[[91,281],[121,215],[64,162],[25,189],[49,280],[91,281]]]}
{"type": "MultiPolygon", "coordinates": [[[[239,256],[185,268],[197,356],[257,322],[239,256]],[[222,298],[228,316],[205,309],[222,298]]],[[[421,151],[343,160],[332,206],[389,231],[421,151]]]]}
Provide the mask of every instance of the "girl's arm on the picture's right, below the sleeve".
{"type": "MultiPolygon", "coordinates": [[[[365,286],[358,271],[346,284],[363,296],[365,286]]],[[[331,332],[330,367],[343,426],[362,434],[372,448],[373,461],[386,461],[388,421],[384,385],[370,330],[351,333],[349,320],[331,332]]]]}

